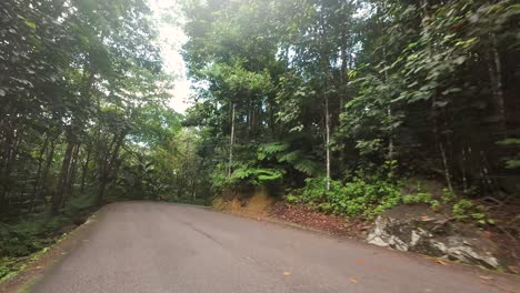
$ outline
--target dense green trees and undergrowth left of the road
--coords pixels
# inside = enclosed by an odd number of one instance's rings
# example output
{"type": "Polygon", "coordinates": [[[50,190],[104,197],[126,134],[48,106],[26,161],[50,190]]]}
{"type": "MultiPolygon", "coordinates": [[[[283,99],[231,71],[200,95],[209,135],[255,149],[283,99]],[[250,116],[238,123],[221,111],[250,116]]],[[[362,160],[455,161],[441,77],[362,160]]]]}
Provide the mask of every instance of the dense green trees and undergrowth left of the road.
{"type": "Polygon", "coordinates": [[[152,20],[144,0],[0,2],[0,279],[94,205],[198,200],[152,20]]]}

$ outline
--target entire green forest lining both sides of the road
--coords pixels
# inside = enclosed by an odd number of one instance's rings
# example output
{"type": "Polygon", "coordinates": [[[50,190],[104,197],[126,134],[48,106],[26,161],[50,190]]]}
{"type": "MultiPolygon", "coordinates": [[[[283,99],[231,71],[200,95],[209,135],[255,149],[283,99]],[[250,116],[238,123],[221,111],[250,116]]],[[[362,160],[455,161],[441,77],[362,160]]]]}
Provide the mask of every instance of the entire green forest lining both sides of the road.
{"type": "Polygon", "coordinates": [[[106,203],[259,189],[367,220],[426,203],[518,239],[517,1],[184,0],[169,12],[188,37],[186,113],[168,107],[176,80],[148,1],[1,1],[0,277],[106,203]]]}

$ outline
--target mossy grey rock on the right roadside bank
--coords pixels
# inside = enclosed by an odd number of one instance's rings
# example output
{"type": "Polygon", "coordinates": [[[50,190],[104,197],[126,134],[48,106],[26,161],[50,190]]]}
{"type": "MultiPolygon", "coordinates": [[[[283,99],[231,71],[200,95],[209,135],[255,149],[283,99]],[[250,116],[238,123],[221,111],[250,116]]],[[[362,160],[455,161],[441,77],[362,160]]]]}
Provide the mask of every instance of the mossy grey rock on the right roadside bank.
{"type": "Polygon", "coordinates": [[[483,232],[449,221],[423,205],[400,205],[381,213],[367,241],[378,246],[424,253],[498,269],[498,246],[483,232]]]}

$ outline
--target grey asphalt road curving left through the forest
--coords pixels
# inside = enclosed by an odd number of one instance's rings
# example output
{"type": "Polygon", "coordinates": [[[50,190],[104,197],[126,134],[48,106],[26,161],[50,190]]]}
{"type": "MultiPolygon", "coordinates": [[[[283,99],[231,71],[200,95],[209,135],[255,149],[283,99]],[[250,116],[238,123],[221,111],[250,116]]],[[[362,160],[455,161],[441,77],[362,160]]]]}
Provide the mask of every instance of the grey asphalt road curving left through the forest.
{"type": "Polygon", "coordinates": [[[517,279],[206,209],[106,206],[32,292],[519,292],[517,279]],[[517,291],[516,291],[517,290],[517,291]]]}

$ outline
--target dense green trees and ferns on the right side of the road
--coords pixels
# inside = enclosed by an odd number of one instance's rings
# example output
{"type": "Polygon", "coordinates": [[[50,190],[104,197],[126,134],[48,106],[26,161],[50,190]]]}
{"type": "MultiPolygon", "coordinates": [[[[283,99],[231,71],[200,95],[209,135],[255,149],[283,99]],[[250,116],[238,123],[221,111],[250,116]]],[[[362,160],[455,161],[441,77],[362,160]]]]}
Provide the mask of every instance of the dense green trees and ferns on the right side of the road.
{"type": "Polygon", "coordinates": [[[217,193],[290,189],[291,202],[367,218],[403,202],[457,204],[456,193],[518,194],[516,1],[224,0],[183,10],[198,84],[184,123],[201,129],[217,193]],[[406,178],[446,188],[403,198],[406,178]]]}

